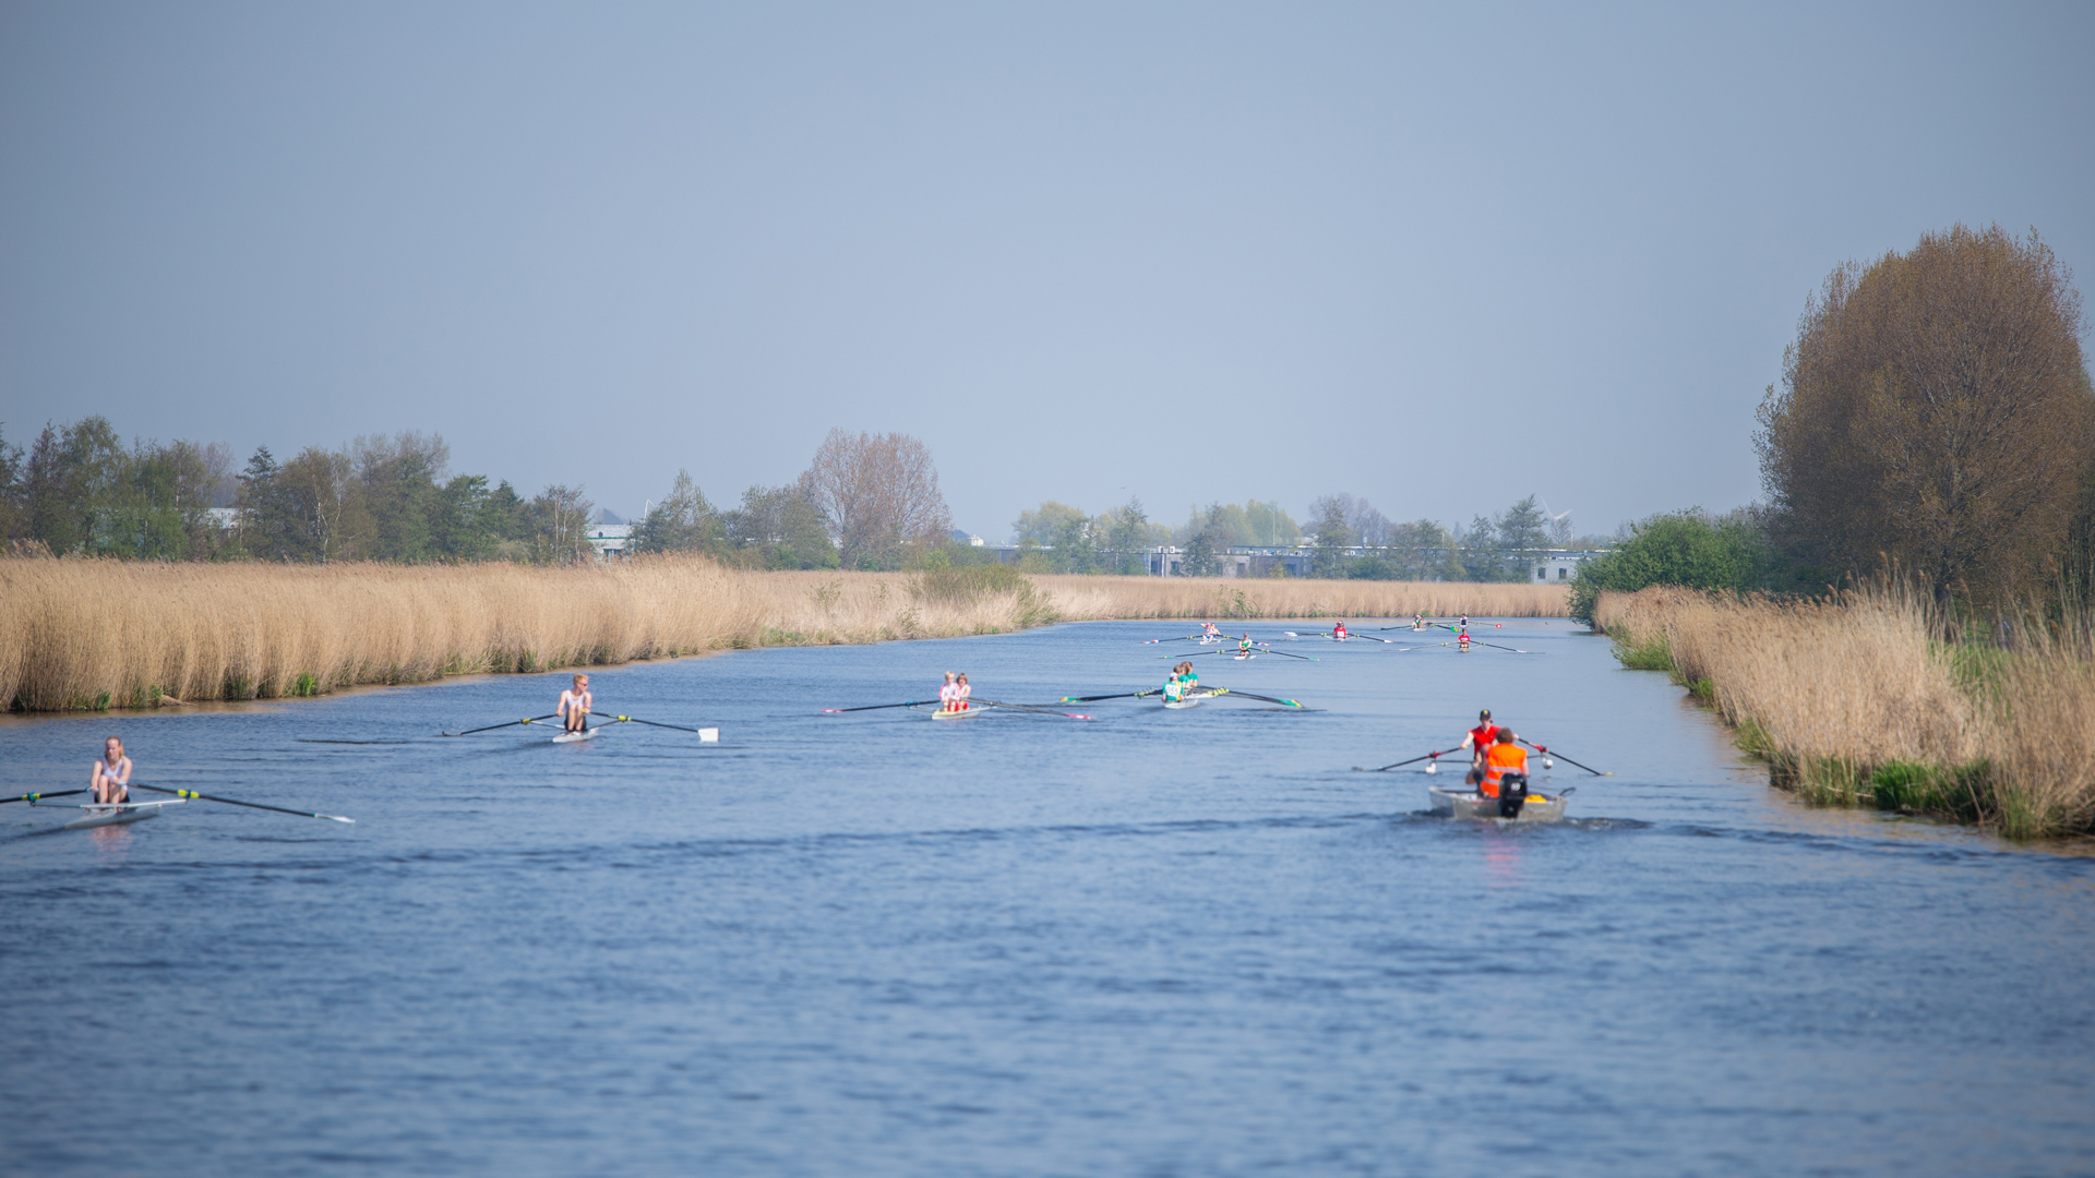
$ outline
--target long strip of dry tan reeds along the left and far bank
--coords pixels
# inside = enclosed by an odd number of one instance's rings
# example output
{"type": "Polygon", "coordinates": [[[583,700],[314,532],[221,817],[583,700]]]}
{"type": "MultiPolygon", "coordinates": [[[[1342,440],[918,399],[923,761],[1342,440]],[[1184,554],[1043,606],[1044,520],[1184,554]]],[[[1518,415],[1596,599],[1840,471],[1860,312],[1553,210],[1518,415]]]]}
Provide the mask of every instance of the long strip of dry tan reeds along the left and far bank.
{"type": "Polygon", "coordinates": [[[1094,618],[1563,616],[1563,589],[517,564],[0,560],[0,700],[71,711],[1094,618]]]}

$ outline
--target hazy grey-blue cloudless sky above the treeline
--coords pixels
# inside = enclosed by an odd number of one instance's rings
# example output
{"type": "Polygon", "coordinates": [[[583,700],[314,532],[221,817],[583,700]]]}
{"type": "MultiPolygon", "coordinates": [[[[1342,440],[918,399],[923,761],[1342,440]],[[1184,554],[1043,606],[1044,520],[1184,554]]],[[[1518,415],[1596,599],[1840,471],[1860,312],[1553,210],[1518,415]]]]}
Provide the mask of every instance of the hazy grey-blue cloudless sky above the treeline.
{"type": "Polygon", "coordinates": [[[2095,4],[1450,8],[4,2],[0,421],[1611,530],[1758,495],[1837,262],[2095,277],[2095,4]]]}

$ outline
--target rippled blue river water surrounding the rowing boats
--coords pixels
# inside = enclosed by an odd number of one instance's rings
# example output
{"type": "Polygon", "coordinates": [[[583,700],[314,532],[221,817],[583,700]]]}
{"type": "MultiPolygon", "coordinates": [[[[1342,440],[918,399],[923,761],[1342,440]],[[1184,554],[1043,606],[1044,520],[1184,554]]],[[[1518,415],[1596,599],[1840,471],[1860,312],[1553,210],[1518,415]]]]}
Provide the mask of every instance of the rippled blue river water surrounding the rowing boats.
{"type": "Polygon", "coordinates": [[[817,715],[1148,685],[1167,633],[593,675],[719,746],[432,736],[559,677],[0,723],[8,794],[117,732],[358,820],[0,807],[0,1172],[2095,1170],[2095,861],[1798,807],[1565,623],[1196,660],[1307,715],[817,715]],[[1500,830],[1349,771],[1481,704],[1615,776],[1500,830]]]}

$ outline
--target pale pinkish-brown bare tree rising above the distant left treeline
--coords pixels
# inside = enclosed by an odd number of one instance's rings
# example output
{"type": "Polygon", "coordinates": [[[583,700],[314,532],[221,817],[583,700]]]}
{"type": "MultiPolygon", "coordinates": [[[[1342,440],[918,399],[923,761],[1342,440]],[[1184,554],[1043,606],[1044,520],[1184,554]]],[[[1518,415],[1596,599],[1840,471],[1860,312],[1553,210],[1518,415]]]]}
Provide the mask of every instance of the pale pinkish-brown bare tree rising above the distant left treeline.
{"type": "Polygon", "coordinates": [[[930,449],[907,434],[830,430],[800,493],[830,520],[844,568],[899,568],[953,530],[930,449]]]}

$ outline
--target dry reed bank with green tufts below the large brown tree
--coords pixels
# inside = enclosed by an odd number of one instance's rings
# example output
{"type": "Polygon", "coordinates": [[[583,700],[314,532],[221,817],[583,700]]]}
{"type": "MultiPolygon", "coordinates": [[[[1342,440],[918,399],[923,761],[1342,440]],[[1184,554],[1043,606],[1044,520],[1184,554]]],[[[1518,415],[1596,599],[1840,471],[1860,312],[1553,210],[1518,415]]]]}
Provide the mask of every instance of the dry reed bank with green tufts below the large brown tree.
{"type": "Polygon", "coordinates": [[[2017,838],[2095,830],[2085,627],[2022,623],[1950,643],[1932,604],[1896,587],[1802,604],[1605,593],[1594,623],[1626,667],[1668,671],[1808,801],[2017,838]]]}

